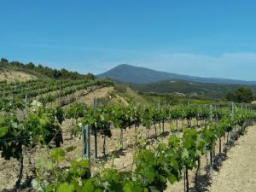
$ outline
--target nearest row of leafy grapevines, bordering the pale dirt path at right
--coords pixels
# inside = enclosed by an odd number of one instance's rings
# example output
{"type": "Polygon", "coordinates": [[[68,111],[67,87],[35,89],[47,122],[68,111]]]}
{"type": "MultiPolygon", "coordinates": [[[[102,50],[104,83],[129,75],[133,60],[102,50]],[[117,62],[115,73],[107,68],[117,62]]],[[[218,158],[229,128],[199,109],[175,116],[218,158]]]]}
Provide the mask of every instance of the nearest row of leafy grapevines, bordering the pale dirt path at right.
{"type": "MultiPolygon", "coordinates": [[[[197,130],[185,128],[182,137],[169,137],[167,144],[160,143],[153,150],[138,149],[131,170],[125,172],[108,168],[86,177],[89,163],[83,159],[73,160],[70,168],[63,170],[58,164],[65,151],[56,148],[50,152],[54,166],[50,166],[48,172],[52,177],[35,182],[34,187],[57,192],[160,192],[166,189],[167,182],[179,181],[184,172],[185,190],[189,191],[189,170],[200,167],[201,156],[212,153],[218,137],[224,137],[224,133],[229,132],[233,125],[245,127],[247,119],[255,119],[255,114],[241,111],[237,113],[236,119],[225,115],[218,124],[211,123],[197,130]]],[[[241,134],[241,131],[237,134],[241,134]]],[[[196,174],[198,176],[198,172],[196,174]]]]}

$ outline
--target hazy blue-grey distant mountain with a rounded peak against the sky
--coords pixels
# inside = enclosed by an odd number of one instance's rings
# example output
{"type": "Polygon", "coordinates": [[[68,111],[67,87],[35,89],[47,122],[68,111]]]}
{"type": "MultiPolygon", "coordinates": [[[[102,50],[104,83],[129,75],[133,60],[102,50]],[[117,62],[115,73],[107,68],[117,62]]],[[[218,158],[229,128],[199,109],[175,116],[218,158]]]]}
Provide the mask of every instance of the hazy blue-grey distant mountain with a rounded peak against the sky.
{"type": "Polygon", "coordinates": [[[111,78],[117,81],[133,84],[148,84],[163,80],[180,79],[192,82],[212,83],[212,84],[256,84],[256,81],[244,81],[234,79],[200,78],[177,73],[167,73],[155,71],[146,67],[135,67],[121,64],[113,67],[106,73],[97,75],[98,78],[111,78]]]}

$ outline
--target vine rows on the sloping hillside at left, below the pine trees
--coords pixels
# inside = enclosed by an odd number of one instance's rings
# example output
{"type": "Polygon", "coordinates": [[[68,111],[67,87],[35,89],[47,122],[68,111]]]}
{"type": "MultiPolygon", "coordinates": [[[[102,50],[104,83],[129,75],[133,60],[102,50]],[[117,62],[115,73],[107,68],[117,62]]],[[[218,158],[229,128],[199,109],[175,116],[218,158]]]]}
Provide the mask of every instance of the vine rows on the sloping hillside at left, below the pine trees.
{"type": "Polygon", "coordinates": [[[24,99],[29,98],[31,102],[36,99],[43,105],[58,100],[59,106],[64,106],[74,102],[78,96],[86,95],[94,88],[108,86],[113,84],[107,80],[32,80],[20,83],[0,83],[0,110],[9,111],[12,109],[25,109],[26,103],[24,99]],[[79,90],[86,90],[78,93],[79,90]],[[75,96],[68,98],[72,94],[75,96]],[[62,98],[62,100],[61,100],[62,98]],[[64,98],[64,99],[63,99],[64,98]]]}

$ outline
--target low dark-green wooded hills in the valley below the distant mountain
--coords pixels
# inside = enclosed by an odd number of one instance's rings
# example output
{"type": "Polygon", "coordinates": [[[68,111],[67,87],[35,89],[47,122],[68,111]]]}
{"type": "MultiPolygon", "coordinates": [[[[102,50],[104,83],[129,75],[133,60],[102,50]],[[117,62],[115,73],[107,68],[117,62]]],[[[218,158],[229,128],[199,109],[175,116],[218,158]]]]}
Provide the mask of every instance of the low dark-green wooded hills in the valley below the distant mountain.
{"type": "MultiPolygon", "coordinates": [[[[209,84],[184,80],[165,80],[149,84],[131,84],[131,87],[137,91],[140,91],[140,93],[143,93],[143,95],[166,97],[166,101],[169,101],[168,103],[183,102],[183,104],[185,104],[185,102],[191,100],[191,104],[207,104],[207,100],[216,101],[219,99],[224,99],[229,91],[233,92],[241,87],[241,85],[209,84]],[[172,96],[173,93],[176,94],[172,96]],[[205,103],[202,101],[205,101],[205,103]]],[[[252,89],[253,92],[256,91],[256,87],[254,85],[247,85],[246,87],[252,89]]]]}

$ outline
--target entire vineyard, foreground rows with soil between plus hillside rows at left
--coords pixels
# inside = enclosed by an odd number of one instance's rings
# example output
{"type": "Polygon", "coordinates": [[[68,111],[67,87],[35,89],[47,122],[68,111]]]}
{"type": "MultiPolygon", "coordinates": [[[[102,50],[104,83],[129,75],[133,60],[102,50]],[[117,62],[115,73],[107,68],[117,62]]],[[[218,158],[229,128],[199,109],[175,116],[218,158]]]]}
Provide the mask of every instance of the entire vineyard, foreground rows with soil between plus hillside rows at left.
{"type": "Polygon", "coordinates": [[[180,181],[190,191],[192,174],[200,191],[202,158],[210,175],[256,119],[251,106],[235,103],[76,102],[113,85],[108,79],[0,85],[0,151],[19,167],[17,191],[157,192],[180,181]]]}

